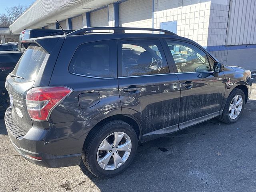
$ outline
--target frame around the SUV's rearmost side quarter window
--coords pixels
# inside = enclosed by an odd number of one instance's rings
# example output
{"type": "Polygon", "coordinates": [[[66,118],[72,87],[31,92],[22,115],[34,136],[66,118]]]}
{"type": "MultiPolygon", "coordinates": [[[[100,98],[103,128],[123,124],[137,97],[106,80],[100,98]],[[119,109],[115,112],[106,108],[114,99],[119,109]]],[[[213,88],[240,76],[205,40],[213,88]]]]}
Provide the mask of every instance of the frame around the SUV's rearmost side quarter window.
{"type": "MultiPolygon", "coordinates": [[[[100,42],[107,42],[107,43],[105,43],[105,44],[108,44],[109,49],[113,50],[113,58],[117,58],[117,57],[118,57],[118,56],[117,56],[117,46],[116,46],[116,45],[117,45],[117,40],[115,40],[115,39],[106,39],[106,40],[90,41],[90,42],[85,42],[85,43],[79,44],[79,45],[77,46],[76,50],[74,51],[74,53],[72,54],[72,57],[71,57],[70,62],[69,62],[69,64],[68,64],[68,72],[69,72],[70,74],[77,75],[77,76],[82,76],[82,77],[98,78],[98,79],[116,79],[116,78],[117,78],[117,76],[118,76],[118,60],[116,60],[116,62],[115,62],[115,63],[116,63],[116,69],[115,69],[116,76],[115,76],[115,77],[97,77],[97,76],[91,76],[91,75],[84,75],[84,74],[79,74],[79,73],[72,72],[72,71],[70,70],[70,67],[71,67],[71,65],[72,65],[72,60],[73,60],[73,58],[74,58],[76,52],[78,51],[79,47],[80,47],[80,46],[84,46],[85,44],[92,44],[92,43],[97,43],[97,42],[98,42],[99,44],[100,44],[100,42]]],[[[111,54],[111,56],[112,56],[112,54],[111,54]]],[[[111,56],[110,56],[110,57],[111,57],[111,56]]]]}

